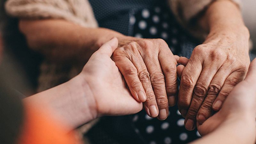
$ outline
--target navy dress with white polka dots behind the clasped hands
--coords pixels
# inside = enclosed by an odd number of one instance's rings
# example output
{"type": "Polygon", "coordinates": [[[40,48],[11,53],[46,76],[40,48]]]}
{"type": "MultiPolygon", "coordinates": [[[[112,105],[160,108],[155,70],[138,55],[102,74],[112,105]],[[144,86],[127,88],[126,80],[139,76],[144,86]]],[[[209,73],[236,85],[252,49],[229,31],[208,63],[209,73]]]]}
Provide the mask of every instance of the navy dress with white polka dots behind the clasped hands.
{"type": "MultiPolygon", "coordinates": [[[[189,42],[188,33],[175,21],[165,0],[106,1],[108,3],[90,0],[100,27],[134,37],[162,38],[173,54],[186,57],[195,47],[189,42]],[[117,7],[112,5],[113,2],[117,7]]],[[[149,117],[144,110],[130,118],[134,132],[148,144],[182,144],[200,137],[197,130],[185,129],[184,118],[177,106],[169,108],[169,116],[164,121],[149,117]]]]}

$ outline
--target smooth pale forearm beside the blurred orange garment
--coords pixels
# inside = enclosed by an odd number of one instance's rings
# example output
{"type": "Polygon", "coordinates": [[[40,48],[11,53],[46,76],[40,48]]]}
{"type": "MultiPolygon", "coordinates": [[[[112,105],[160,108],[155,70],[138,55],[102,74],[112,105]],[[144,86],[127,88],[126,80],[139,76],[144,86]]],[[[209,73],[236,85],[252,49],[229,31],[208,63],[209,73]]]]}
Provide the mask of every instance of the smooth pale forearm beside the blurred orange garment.
{"type": "Polygon", "coordinates": [[[56,121],[70,130],[97,117],[94,98],[83,77],[37,93],[24,99],[48,112],[56,121]]]}

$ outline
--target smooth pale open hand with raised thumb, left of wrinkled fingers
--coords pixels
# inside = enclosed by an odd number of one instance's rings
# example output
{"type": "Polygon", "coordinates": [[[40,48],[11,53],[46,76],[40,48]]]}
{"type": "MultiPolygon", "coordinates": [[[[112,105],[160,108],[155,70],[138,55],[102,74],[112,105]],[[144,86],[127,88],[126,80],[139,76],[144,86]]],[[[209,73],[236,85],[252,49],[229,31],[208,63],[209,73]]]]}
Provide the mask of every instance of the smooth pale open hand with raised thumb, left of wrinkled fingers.
{"type": "Polygon", "coordinates": [[[97,116],[135,114],[143,108],[141,102],[133,99],[115,62],[110,58],[117,45],[117,38],[103,44],[79,74],[90,87],[94,98],[94,104],[90,107],[96,109],[97,116]]]}

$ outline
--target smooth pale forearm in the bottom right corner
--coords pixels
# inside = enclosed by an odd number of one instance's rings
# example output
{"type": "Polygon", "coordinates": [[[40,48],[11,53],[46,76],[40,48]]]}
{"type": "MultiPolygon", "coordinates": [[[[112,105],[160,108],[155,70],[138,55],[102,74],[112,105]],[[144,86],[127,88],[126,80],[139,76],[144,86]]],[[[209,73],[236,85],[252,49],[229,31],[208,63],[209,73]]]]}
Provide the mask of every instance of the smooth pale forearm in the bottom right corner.
{"type": "Polygon", "coordinates": [[[255,118],[253,116],[232,118],[225,121],[212,133],[198,139],[192,144],[240,144],[255,143],[255,118]]]}

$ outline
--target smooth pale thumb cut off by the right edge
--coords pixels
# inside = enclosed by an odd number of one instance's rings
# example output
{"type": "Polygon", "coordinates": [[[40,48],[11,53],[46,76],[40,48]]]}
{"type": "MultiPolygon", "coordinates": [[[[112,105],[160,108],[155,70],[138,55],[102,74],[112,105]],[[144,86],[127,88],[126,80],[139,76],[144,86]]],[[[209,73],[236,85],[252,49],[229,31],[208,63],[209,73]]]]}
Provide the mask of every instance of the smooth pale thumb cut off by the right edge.
{"type": "Polygon", "coordinates": [[[256,59],[252,60],[245,81],[249,84],[256,85],[256,59]]]}

